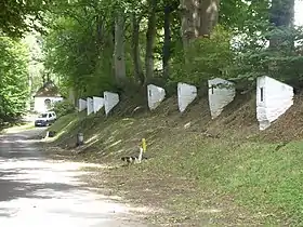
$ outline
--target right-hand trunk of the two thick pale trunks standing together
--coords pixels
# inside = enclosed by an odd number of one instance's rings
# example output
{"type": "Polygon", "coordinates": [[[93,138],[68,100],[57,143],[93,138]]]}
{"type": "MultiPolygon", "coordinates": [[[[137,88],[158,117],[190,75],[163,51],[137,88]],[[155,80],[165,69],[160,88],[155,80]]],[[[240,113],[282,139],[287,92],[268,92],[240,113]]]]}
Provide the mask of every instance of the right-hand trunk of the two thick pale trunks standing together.
{"type": "Polygon", "coordinates": [[[220,0],[202,0],[199,36],[210,36],[219,19],[220,0]]]}

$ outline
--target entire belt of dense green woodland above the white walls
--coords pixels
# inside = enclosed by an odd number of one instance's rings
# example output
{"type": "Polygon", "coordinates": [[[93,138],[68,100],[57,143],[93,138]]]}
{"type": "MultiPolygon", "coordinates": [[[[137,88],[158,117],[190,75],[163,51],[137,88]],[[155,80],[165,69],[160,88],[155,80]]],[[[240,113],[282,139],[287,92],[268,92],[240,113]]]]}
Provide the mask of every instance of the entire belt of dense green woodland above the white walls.
{"type": "Polygon", "coordinates": [[[294,0],[4,0],[0,26],[2,120],[19,116],[49,79],[75,97],[149,82],[205,86],[213,77],[240,91],[263,75],[303,82],[294,0]]]}

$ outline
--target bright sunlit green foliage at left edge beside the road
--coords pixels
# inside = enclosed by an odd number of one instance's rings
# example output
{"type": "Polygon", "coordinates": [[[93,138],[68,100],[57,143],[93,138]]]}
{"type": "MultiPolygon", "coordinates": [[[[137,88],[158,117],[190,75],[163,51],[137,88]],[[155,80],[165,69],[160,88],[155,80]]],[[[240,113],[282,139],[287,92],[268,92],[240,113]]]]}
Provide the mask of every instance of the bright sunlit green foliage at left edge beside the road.
{"type": "Polygon", "coordinates": [[[28,98],[28,55],[26,46],[0,37],[0,121],[19,117],[28,98]]]}

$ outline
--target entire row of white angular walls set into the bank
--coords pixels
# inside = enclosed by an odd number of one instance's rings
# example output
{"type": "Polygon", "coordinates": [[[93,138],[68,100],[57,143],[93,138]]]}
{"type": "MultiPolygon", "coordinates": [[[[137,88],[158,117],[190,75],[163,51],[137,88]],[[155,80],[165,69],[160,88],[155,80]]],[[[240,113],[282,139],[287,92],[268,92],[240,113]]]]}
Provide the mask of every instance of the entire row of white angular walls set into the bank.
{"type": "MultiPolygon", "coordinates": [[[[234,83],[221,78],[208,81],[209,107],[212,119],[223,111],[236,95],[234,83]],[[218,86],[224,84],[224,86],[218,86]]],[[[156,109],[166,98],[166,91],[154,84],[147,85],[148,107],[156,109]]],[[[187,106],[197,97],[197,88],[186,83],[177,83],[177,104],[180,112],[184,112],[187,106]]],[[[119,103],[119,95],[104,92],[104,97],[88,97],[79,99],[79,111],[87,109],[88,115],[96,114],[103,107],[106,116],[119,103]]],[[[260,77],[256,80],[256,118],[260,130],[267,129],[273,121],[285,114],[293,105],[293,89],[269,77],[260,77]]]]}

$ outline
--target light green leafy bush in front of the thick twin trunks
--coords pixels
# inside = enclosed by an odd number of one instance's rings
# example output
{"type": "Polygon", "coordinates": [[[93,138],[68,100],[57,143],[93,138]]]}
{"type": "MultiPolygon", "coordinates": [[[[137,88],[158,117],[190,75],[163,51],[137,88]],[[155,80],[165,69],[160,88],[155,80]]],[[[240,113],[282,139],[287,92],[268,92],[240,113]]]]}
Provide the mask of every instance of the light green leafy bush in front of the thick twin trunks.
{"type": "Polygon", "coordinates": [[[199,85],[213,77],[224,77],[223,72],[233,64],[230,39],[230,32],[216,26],[211,38],[195,40],[186,52],[186,63],[182,58],[172,62],[171,80],[199,85]]]}

